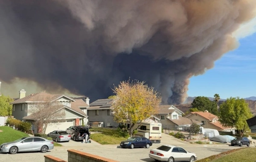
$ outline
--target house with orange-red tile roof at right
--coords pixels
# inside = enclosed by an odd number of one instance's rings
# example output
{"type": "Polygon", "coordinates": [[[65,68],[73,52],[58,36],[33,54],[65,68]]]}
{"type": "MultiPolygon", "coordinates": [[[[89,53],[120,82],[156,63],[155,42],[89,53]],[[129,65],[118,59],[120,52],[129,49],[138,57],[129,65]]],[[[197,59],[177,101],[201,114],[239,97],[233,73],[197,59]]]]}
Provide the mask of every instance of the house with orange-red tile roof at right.
{"type": "Polygon", "coordinates": [[[205,110],[204,112],[202,112],[202,111],[190,112],[183,117],[201,122],[202,123],[201,126],[204,128],[215,129],[218,131],[233,131],[234,130],[231,127],[224,127],[218,121],[218,116],[215,116],[212,113],[209,113],[207,110],[205,110]]]}

